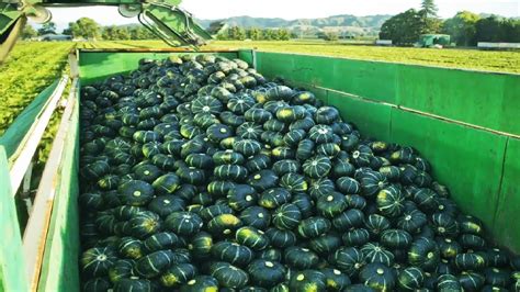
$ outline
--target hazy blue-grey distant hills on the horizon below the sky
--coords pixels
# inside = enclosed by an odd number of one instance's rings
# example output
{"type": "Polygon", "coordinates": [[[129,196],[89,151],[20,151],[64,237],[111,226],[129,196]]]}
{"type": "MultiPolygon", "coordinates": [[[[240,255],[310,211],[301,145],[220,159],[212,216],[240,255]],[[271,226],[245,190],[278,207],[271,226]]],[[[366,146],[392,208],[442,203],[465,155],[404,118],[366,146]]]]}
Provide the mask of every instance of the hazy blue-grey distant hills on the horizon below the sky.
{"type": "Polygon", "coordinates": [[[224,21],[229,26],[240,26],[245,29],[287,29],[301,34],[315,34],[317,32],[334,31],[352,35],[375,35],[381,25],[392,15],[369,15],[355,16],[350,14],[334,15],[321,19],[265,19],[251,16],[235,16],[221,20],[197,20],[204,26],[210,26],[214,21],[224,21]]]}

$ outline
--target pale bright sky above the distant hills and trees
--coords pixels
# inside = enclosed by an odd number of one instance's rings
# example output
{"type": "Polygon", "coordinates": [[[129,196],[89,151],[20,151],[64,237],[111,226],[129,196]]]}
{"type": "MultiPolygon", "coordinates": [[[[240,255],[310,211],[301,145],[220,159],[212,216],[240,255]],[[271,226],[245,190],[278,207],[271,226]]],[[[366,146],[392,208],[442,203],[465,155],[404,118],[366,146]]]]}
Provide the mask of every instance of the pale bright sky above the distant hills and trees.
{"type": "MultiPolygon", "coordinates": [[[[396,14],[419,8],[420,0],[184,0],[181,7],[200,19],[222,19],[250,15],[258,18],[325,18],[335,14],[396,14]]],[[[520,16],[520,0],[437,0],[439,15],[450,18],[457,11],[495,13],[520,16]]],[[[52,9],[53,21],[59,29],[81,16],[94,19],[103,25],[136,23],[136,19],[120,16],[116,8],[91,7],[52,9]]]]}

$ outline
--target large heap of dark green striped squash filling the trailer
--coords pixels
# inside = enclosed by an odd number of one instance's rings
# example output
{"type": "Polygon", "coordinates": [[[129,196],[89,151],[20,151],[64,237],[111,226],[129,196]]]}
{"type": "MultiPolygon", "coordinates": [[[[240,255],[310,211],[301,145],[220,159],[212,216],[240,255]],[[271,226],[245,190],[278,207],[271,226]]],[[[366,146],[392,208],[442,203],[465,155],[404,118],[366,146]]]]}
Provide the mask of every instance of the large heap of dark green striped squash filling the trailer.
{"type": "Polygon", "coordinates": [[[80,119],[84,291],[520,291],[416,149],[242,60],[142,59],[80,119]]]}

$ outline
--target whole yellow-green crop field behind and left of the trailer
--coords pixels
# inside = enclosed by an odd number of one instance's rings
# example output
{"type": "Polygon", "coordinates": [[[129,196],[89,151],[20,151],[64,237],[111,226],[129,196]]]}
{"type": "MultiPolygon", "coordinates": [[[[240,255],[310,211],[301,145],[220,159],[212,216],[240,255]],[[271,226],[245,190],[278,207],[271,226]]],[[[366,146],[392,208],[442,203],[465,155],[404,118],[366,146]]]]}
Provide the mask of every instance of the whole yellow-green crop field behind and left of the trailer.
{"type": "MultiPolygon", "coordinates": [[[[0,135],[32,99],[66,70],[67,54],[83,48],[158,48],[161,41],[90,43],[20,42],[0,65],[0,135]]],[[[433,65],[451,68],[520,72],[520,52],[376,47],[317,41],[214,42],[204,49],[256,48],[268,52],[314,54],[355,59],[433,65]]]]}

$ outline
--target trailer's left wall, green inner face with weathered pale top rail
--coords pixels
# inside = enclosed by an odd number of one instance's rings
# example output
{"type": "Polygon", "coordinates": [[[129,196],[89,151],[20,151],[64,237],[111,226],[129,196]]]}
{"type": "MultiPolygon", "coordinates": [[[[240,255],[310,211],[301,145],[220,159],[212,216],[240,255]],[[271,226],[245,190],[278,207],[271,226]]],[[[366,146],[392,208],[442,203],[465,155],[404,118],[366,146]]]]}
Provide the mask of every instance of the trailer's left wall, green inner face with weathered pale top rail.
{"type": "Polygon", "coordinates": [[[45,244],[45,254],[39,277],[38,291],[80,290],[79,284],[79,88],[71,88],[67,103],[74,103],[68,119],[65,151],[60,166],[60,180],[50,225],[45,244]]]}

